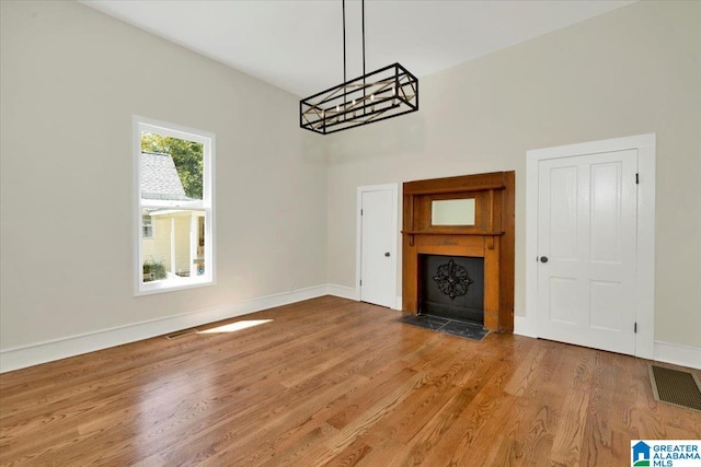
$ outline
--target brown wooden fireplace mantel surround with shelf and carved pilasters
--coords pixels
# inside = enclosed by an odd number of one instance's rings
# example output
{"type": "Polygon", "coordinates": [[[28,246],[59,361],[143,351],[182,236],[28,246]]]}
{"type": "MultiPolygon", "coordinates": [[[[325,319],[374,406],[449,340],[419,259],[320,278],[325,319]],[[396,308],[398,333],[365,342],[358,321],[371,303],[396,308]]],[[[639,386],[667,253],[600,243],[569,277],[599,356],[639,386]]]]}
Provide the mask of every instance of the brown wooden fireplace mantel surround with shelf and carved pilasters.
{"type": "Polygon", "coordinates": [[[420,255],[484,258],[484,327],[514,330],[515,173],[407,182],[403,185],[402,307],[418,313],[420,255]],[[474,225],[432,225],[432,202],[473,198],[474,225]]]}

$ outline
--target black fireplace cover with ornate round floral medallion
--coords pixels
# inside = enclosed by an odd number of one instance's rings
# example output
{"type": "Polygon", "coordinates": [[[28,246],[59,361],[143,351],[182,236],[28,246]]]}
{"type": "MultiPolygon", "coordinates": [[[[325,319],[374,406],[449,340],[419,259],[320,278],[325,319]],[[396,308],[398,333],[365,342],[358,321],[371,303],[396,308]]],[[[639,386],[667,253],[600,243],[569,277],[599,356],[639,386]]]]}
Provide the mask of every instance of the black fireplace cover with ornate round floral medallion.
{"type": "Polygon", "coordinates": [[[418,255],[420,313],[484,325],[484,258],[418,255]]]}

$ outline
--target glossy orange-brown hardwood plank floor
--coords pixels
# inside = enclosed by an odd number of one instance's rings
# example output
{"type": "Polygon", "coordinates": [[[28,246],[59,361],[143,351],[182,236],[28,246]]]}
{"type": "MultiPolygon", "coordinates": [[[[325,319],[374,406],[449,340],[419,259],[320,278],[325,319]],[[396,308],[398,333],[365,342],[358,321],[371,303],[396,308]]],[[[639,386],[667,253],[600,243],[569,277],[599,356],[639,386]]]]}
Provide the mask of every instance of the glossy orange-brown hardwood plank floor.
{"type": "Polygon", "coordinates": [[[325,296],[2,374],[0,464],[623,466],[633,439],[701,439],[647,361],[399,316],[325,296]]]}

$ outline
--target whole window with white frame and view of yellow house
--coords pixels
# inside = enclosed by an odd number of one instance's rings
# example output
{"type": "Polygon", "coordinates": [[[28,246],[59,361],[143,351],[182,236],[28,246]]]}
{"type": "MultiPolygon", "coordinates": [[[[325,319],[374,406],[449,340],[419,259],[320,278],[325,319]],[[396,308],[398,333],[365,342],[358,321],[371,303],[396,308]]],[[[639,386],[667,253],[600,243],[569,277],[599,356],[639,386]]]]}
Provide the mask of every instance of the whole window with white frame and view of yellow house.
{"type": "Polygon", "coordinates": [[[214,142],[134,117],[135,294],[214,283],[214,142]]]}

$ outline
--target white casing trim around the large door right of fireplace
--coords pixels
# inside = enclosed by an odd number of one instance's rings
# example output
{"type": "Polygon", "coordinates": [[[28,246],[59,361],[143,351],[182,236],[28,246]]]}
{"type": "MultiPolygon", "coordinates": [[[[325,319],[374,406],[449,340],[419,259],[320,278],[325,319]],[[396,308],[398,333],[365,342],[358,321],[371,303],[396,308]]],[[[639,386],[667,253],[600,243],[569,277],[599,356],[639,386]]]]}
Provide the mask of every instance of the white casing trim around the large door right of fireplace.
{"type": "Polygon", "coordinates": [[[536,149],[526,152],[526,316],[515,320],[516,334],[539,336],[538,326],[538,164],[548,159],[637,150],[637,275],[635,278],[635,357],[655,353],[655,160],[656,135],[536,149]]]}

